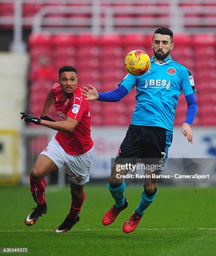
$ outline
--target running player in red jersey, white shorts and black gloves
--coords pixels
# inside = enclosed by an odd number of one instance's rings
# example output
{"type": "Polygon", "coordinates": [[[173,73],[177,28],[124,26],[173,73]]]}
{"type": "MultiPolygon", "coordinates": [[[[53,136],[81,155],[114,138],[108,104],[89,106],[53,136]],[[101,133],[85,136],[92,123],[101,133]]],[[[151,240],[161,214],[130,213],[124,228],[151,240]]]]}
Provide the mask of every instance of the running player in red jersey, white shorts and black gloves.
{"type": "Polygon", "coordinates": [[[25,219],[30,226],[46,213],[45,177],[50,172],[64,168],[71,185],[71,207],[64,222],[55,229],[56,233],[69,231],[79,221],[79,212],[84,202],[84,184],[89,181],[92,165],[93,141],[91,139],[91,117],[89,103],[81,95],[77,85],[76,69],[64,66],[59,69],[58,84],[48,92],[41,118],[21,113],[26,123],[35,123],[57,130],[56,136],[38,156],[30,173],[30,191],[37,207],[25,219]],[[58,121],[47,116],[55,104],[58,121]]]}

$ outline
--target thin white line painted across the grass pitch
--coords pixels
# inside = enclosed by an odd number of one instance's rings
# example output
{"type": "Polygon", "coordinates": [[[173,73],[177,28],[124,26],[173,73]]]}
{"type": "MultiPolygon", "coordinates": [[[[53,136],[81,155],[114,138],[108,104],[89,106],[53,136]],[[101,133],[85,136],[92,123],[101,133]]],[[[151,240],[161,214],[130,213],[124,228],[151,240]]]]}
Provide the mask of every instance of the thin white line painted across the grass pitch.
{"type": "MultiPolygon", "coordinates": [[[[109,230],[109,231],[120,231],[122,229],[120,228],[104,228],[104,229],[78,229],[78,228],[73,228],[71,231],[104,231],[104,230],[109,230]]],[[[216,230],[216,228],[137,228],[136,230],[216,230]]],[[[0,230],[0,232],[25,232],[25,231],[39,231],[39,232],[53,232],[53,230],[50,229],[38,229],[38,230],[27,230],[27,229],[20,229],[20,230],[0,230]]]]}

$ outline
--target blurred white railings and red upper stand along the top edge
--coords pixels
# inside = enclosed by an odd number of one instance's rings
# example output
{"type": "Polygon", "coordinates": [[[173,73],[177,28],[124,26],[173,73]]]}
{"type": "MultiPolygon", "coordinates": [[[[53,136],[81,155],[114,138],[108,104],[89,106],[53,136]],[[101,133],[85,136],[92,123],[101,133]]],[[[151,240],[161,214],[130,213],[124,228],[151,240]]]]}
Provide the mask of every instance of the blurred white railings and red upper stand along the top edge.
{"type": "Polygon", "coordinates": [[[214,0],[0,0],[1,29],[14,29],[12,49],[24,50],[23,29],[94,34],[152,33],[169,26],[175,33],[216,33],[214,0]]]}

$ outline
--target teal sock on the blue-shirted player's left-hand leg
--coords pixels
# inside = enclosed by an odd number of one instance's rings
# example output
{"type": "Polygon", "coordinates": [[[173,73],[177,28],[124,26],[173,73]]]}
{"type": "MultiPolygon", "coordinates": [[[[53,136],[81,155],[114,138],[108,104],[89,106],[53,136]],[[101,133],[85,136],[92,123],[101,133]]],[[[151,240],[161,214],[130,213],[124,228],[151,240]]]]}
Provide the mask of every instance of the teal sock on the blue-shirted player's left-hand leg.
{"type": "Polygon", "coordinates": [[[122,207],[125,203],[125,181],[118,187],[111,187],[110,184],[107,184],[107,187],[115,200],[115,207],[122,207]]]}

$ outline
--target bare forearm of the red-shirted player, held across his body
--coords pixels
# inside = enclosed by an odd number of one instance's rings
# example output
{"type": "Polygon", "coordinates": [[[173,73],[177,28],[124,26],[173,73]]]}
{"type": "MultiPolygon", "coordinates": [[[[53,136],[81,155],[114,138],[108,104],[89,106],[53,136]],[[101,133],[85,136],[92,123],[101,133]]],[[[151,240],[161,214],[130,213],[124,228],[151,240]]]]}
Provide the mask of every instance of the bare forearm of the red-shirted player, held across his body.
{"type": "Polygon", "coordinates": [[[78,121],[73,119],[72,121],[65,120],[65,121],[51,122],[51,121],[41,119],[40,124],[56,131],[64,131],[66,133],[72,133],[74,131],[74,128],[78,124],[78,121]]]}

